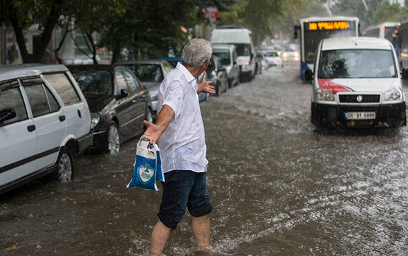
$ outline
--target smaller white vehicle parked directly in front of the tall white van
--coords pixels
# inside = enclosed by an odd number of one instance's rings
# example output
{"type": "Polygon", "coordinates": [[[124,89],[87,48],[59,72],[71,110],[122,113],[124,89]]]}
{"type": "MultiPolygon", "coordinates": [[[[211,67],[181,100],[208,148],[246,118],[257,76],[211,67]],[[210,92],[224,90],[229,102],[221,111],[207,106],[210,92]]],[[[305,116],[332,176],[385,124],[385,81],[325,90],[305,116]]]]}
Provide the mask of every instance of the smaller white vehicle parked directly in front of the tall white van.
{"type": "Polygon", "coordinates": [[[228,87],[239,85],[239,66],[237,47],[234,44],[213,44],[212,53],[219,57],[228,77],[228,87]]]}

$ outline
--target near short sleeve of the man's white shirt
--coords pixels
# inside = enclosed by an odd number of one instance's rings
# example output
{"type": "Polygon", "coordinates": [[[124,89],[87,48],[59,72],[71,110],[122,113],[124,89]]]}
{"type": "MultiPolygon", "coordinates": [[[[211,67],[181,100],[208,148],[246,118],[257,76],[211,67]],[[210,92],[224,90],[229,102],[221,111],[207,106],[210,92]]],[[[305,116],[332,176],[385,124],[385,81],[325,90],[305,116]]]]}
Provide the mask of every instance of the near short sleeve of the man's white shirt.
{"type": "Polygon", "coordinates": [[[163,106],[168,105],[173,109],[174,116],[177,117],[183,107],[183,98],[185,94],[186,84],[180,80],[174,80],[167,86],[167,90],[163,95],[163,106]]]}

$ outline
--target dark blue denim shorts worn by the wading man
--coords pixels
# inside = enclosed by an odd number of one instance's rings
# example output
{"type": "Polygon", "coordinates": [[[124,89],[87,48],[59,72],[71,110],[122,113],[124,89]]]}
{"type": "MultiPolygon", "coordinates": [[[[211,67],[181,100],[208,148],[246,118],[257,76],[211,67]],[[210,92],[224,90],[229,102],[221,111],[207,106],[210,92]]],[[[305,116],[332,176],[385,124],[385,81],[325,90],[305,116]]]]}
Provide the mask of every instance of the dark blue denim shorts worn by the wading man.
{"type": "Polygon", "coordinates": [[[186,207],[193,217],[201,217],[212,212],[205,172],[186,170],[166,172],[162,185],[163,195],[158,217],[167,228],[176,229],[186,207]]]}

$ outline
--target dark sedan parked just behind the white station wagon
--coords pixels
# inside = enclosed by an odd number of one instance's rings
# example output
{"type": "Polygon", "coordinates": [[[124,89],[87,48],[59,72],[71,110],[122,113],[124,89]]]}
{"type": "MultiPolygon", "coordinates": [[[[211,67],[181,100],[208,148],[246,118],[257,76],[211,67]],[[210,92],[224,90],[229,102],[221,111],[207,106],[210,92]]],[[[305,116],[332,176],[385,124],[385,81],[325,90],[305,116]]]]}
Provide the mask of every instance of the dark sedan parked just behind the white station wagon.
{"type": "Polygon", "coordinates": [[[113,65],[68,68],[91,109],[91,152],[118,154],[122,143],[145,130],[143,120],[153,121],[149,92],[130,69],[113,65]]]}

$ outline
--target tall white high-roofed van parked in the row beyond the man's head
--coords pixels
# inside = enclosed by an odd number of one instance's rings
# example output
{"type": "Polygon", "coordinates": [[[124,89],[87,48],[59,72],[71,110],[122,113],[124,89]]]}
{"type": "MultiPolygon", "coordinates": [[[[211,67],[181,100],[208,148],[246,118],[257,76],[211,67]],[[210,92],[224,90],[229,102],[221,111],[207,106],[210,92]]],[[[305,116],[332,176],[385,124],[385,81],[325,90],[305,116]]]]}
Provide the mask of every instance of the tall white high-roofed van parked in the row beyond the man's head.
{"type": "Polygon", "coordinates": [[[216,28],[211,35],[212,44],[234,44],[242,80],[252,80],[256,72],[256,57],[251,31],[247,28],[216,28]]]}

